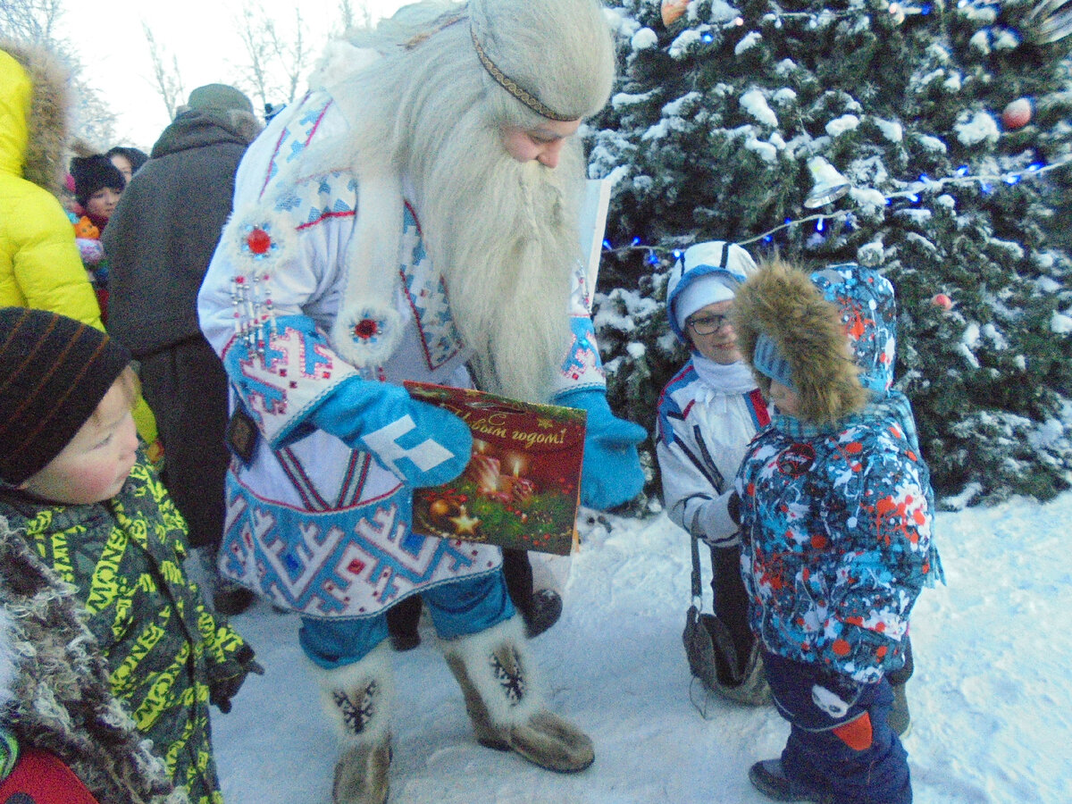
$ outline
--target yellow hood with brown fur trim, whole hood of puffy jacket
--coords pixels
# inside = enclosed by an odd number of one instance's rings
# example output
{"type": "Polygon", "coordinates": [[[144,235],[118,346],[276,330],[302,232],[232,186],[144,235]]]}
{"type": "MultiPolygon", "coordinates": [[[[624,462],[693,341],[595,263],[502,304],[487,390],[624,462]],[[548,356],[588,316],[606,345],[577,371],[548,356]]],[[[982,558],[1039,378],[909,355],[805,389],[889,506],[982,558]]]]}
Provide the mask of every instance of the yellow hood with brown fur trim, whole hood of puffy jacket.
{"type": "Polygon", "coordinates": [[[68,71],[49,51],[0,41],[0,173],[58,195],[71,109],[68,71]]]}

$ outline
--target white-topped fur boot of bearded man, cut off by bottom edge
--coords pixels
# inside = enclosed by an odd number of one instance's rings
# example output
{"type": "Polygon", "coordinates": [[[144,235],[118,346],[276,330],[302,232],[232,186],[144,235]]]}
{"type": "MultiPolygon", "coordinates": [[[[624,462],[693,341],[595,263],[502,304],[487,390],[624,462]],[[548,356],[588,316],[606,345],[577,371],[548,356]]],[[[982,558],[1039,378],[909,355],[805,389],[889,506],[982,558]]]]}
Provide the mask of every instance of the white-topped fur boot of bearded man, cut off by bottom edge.
{"type": "Polygon", "coordinates": [[[324,708],[342,736],[332,801],[384,804],[389,788],[389,721],[394,691],[387,643],[354,665],[333,670],[313,666],[313,672],[324,708]]]}

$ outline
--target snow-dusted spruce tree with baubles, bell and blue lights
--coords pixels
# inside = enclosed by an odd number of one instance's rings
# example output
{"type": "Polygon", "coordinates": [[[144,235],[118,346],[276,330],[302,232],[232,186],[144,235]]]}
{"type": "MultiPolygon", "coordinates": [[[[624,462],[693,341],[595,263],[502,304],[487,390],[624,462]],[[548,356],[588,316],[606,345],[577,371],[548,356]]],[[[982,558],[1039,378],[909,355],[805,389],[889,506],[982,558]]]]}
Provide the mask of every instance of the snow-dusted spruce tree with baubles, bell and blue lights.
{"type": "Polygon", "coordinates": [[[616,410],[651,423],[686,357],[662,312],[675,252],[719,239],[859,262],[897,288],[897,384],[939,496],[1067,488],[1072,3],[619,0],[608,15],[621,77],[590,170],[615,180],[596,324],[616,410]]]}

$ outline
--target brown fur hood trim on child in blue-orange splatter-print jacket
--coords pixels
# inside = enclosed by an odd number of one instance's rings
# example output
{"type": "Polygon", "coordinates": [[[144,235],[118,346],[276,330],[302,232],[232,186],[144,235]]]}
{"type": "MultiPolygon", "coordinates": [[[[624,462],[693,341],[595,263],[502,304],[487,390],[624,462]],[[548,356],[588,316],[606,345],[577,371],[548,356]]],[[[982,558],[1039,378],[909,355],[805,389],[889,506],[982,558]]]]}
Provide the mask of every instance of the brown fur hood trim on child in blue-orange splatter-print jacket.
{"type": "MultiPolygon", "coordinates": [[[[863,410],[868,394],[852,361],[840,311],[808,274],[780,259],[762,265],[738,291],[733,316],[749,364],[760,332],[789,362],[802,421],[831,423],[863,410]]],[[[771,381],[755,373],[760,388],[770,391],[771,381]]]]}

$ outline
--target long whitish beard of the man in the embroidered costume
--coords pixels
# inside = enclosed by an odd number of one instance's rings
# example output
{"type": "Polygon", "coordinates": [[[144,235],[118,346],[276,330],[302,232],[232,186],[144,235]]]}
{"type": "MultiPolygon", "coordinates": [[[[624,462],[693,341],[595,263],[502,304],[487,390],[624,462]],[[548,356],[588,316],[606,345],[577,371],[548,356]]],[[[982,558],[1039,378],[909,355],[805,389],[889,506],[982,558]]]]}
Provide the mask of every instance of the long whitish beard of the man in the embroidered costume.
{"type": "Polygon", "coordinates": [[[546,402],[569,344],[581,150],[549,169],[511,159],[497,132],[460,130],[413,177],[426,247],[480,387],[546,402]]]}

